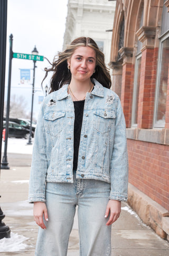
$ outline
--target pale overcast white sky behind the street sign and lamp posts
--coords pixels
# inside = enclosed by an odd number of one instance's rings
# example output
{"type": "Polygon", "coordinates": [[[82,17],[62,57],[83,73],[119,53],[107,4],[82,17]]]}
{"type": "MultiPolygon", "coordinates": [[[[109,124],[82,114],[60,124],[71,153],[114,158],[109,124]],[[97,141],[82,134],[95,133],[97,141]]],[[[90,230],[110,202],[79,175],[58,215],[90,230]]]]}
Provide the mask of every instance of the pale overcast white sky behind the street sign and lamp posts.
{"type": "MultiPolygon", "coordinates": [[[[55,54],[62,50],[68,0],[8,0],[7,13],[7,46],[6,46],[6,87],[8,81],[9,36],[13,34],[13,52],[31,54],[34,46],[39,55],[47,57],[51,62],[55,54]]],[[[43,95],[41,81],[47,61],[36,62],[34,116],[37,116],[40,105],[38,96],[43,95]]],[[[12,60],[11,95],[23,95],[27,112],[31,110],[32,86],[20,84],[20,69],[33,69],[33,61],[12,60]]],[[[31,83],[33,71],[31,70],[31,83]]],[[[49,80],[46,80],[44,86],[49,80]]]]}

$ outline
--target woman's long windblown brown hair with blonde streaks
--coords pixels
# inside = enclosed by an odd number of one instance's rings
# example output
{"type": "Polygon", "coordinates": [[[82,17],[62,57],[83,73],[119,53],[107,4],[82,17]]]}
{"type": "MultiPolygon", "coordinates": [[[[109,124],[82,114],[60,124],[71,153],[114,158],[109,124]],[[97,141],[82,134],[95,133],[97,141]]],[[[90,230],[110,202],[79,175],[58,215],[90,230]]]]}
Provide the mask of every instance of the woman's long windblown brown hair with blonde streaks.
{"type": "Polygon", "coordinates": [[[59,88],[61,88],[63,84],[70,83],[71,72],[68,69],[67,60],[71,58],[76,48],[80,46],[89,46],[93,48],[96,52],[96,68],[95,73],[93,73],[91,76],[91,79],[95,78],[98,82],[102,84],[102,86],[106,88],[111,87],[109,70],[105,65],[105,55],[101,52],[93,39],[91,39],[90,37],[79,37],[77,39],[74,39],[71,44],[67,46],[64,52],[59,52],[54,57],[52,67],[50,67],[49,69],[45,68],[46,74],[44,79],[48,75],[48,72],[53,71],[53,75],[50,81],[50,93],[59,90],[59,88]]]}

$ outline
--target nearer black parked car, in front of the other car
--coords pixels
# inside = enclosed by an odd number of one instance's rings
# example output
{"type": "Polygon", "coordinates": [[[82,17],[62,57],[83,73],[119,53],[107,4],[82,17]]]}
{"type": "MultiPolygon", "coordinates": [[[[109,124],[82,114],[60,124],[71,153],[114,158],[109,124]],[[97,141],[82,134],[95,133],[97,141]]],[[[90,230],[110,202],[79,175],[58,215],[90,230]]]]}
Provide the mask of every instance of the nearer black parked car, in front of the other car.
{"type": "MultiPolygon", "coordinates": [[[[3,128],[5,129],[6,127],[6,121],[3,121],[3,128]]],[[[34,132],[32,131],[33,135],[34,132]]],[[[14,123],[14,122],[9,122],[8,124],[8,137],[14,137],[14,138],[25,138],[29,139],[29,134],[30,130],[26,129],[25,127],[14,123]]]]}

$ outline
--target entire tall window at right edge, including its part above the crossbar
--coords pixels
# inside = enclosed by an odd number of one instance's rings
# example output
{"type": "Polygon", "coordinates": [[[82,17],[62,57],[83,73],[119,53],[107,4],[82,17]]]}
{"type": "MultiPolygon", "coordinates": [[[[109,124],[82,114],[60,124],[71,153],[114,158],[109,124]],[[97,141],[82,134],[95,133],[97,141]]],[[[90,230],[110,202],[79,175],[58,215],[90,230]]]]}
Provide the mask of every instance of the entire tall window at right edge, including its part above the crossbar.
{"type": "Polygon", "coordinates": [[[162,128],[165,126],[167,79],[169,71],[169,13],[165,5],[163,6],[161,37],[159,40],[153,123],[154,127],[162,128]]]}

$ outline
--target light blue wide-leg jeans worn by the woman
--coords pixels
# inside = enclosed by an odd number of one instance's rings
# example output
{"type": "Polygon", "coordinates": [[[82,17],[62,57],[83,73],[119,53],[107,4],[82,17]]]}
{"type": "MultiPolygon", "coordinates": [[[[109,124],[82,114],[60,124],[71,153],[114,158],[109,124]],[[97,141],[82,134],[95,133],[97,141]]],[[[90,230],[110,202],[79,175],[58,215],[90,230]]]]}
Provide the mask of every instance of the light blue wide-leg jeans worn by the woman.
{"type": "Polygon", "coordinates": [[[106,226],[110,184],[77,179],[73,183],[46,183],[46,230],[39,228],[36,256],[65,256],[78,206],[80,256],[110,256],[111,226],[106,226]]]}

